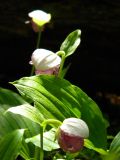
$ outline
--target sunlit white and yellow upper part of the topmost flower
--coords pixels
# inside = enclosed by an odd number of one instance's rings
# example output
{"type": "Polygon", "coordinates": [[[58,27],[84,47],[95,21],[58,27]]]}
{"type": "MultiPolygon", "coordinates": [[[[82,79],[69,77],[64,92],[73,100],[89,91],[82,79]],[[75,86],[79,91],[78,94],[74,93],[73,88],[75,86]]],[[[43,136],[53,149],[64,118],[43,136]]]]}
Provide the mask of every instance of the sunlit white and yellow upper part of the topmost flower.
{"type": "Polygon", "coordinates": [[[51,20],[51,14],[48,14],[41,10],[35,10],[28,13],[28,16],[32,18],[32,21],[42,27],[44,24],[48,23],[51,20]]]}

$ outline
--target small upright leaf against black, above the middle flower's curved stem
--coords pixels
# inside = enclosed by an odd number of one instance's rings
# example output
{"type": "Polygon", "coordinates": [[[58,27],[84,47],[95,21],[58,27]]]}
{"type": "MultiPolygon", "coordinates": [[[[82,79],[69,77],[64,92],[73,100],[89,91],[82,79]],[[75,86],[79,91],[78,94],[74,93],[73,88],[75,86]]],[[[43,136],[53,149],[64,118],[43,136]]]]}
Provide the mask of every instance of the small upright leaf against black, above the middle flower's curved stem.
{"type": "Polygon", "coordinates": [[[75,52],[75,50],[80,44],[80,35],[81,35],[81,31],[77,29],[71,32],[67,36],[67,38],[64,40],[64,42],[60,47],[60,51],[65,52],[65,57],[68,57],[75,52]]]}

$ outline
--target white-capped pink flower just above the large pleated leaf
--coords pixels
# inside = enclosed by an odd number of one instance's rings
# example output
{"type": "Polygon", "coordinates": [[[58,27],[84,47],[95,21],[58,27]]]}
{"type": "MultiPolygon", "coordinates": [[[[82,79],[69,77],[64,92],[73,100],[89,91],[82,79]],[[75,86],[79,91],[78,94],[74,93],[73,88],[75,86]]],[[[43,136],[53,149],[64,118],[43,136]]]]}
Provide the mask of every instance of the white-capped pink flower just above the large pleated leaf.
{"type": "Polygon", "coordinates": [[[61,58],[46,49],[36,49],[31,57],[30,64],[35,66],[36,74],[52,74],[58,72],[61,58]]]}

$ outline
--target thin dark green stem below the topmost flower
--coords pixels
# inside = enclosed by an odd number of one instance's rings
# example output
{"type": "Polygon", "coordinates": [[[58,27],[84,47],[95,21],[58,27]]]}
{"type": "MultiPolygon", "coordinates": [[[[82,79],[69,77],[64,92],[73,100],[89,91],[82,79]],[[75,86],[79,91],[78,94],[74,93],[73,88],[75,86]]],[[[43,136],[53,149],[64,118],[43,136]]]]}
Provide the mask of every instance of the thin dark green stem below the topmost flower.
{"type": "MultiPolygon", "coordinates": [[[[36,44],[36,49],[39,48],[39,46],[40,46],[41,34],[42,34],[42,27],[39,28],[38,38],[37,38],[37,44],[36,44]]],[[[31,69],[30,76],[33,76],[34,71],[35,71],[35,67],[34,67],[34,65],[33,65],[33,66],[32,66],[32,69],[31,69]]]]}

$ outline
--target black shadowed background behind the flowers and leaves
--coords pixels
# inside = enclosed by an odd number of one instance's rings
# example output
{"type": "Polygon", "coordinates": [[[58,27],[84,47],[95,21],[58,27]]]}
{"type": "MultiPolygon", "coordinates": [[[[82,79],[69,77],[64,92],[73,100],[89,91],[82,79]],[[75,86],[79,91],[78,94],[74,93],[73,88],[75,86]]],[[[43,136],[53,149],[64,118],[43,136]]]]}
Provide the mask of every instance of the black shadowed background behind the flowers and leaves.
{"type": "Polygon", "coordinates": [[[66,61],[71,66],[65,78],[99,104],[116,133],[120,129],[120,1],[1,0],[1,87],[13,89],[8,82],[30,75],[37,34],[25,21],[36,9],[52,14],[41,48],[56,52],[70,32],[81,29],[81,44],[66,61]]]}

